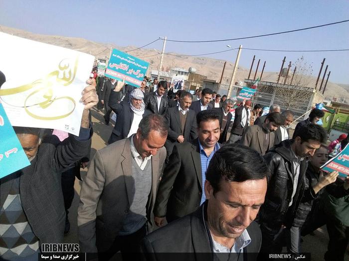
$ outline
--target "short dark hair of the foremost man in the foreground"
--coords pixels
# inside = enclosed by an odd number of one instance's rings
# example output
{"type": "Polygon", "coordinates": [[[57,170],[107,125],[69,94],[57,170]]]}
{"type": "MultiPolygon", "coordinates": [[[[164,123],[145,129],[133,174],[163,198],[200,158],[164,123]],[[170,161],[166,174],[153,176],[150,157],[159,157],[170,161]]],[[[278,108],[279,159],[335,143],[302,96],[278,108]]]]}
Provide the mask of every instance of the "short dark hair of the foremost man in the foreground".
{"type": "Polygon", "coordinates": [[[255,150],[232,143],[221,147],[212,157],[206,179],[213,187],[213,194],[219,191],[222,179],[229,182],[269,179],[271,171],[264,158],[255,150]],[[253,164],[251,164],[253,163],[253,164]]]}

